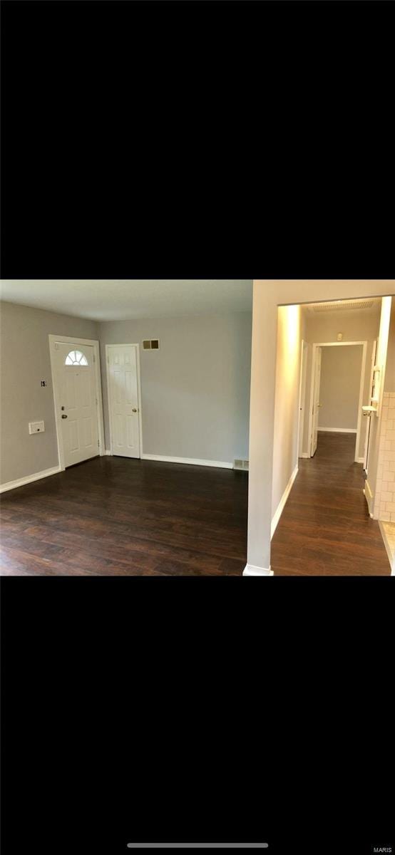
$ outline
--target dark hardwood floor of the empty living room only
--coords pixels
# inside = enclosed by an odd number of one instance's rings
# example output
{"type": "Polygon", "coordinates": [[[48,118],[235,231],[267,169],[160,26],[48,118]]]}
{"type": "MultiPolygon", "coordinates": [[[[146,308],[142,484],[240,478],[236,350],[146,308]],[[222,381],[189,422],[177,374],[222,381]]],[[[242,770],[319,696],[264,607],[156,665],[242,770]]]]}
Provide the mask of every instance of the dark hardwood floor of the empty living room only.
{"type": "Polygon", "coordinates": [[[245,472],[95,457],[3,493],[2,575],[237,575],[245,472]]]}

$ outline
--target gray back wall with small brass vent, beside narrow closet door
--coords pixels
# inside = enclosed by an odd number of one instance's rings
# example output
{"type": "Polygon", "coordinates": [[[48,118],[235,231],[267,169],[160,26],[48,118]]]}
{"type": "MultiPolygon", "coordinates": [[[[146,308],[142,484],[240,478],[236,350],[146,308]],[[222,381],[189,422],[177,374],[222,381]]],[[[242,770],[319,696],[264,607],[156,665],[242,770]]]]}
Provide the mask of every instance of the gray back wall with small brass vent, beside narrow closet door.
{"type": "Polygon", "coordinates": [[[99,324],[106,448],[104,345],[139,344],[144,454],[233,463],[248,458],[251,313],[99,324]],[[160,339],[143,351],[143,339],[160,339]]]}

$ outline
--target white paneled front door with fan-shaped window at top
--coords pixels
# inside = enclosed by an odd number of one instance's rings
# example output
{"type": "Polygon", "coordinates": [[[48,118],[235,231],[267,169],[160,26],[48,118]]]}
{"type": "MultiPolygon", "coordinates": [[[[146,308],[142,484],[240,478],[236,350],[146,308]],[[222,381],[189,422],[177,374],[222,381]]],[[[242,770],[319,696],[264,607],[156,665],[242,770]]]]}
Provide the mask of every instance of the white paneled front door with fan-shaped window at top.
{"type": "Polygon", "coordinates": [[[93,346],[56,341],[55,352],[64,465],[72,466],[99,454],[93,346]]]}

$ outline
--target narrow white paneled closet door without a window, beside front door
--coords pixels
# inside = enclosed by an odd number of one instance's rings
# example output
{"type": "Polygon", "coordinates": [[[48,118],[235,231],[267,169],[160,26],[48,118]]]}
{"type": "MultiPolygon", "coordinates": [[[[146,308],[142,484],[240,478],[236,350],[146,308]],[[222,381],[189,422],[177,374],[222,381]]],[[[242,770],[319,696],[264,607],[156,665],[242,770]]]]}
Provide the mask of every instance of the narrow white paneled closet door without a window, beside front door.
{"type": "Polygon", "coordinates": [[[112,452],[140,457],[137,345],[108,345],[112,452]]]}

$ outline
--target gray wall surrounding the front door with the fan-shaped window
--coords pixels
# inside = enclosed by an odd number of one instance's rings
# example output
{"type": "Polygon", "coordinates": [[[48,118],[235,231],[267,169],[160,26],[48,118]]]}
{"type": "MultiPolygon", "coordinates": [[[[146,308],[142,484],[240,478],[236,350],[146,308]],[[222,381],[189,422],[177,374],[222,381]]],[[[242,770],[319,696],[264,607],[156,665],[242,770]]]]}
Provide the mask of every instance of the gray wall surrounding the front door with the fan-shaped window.
{"type": "Polygon", "coordinates": [[[51,469],[58,461],[48,335],[97,339],[97,324],[12,303],[0,304],[0,483],[51,469]],[[47,386],[40,386],[46,380],[47,386]],[[44,419],[45,433],[28,433],[44,419]]]}

